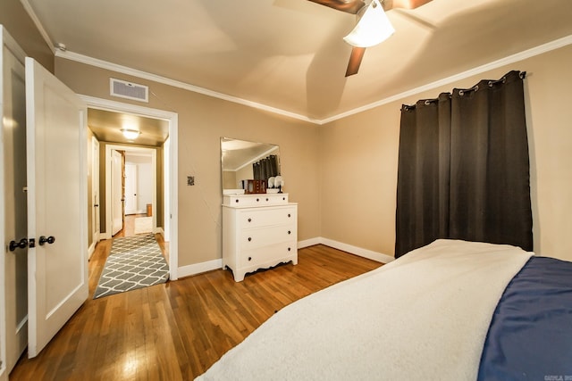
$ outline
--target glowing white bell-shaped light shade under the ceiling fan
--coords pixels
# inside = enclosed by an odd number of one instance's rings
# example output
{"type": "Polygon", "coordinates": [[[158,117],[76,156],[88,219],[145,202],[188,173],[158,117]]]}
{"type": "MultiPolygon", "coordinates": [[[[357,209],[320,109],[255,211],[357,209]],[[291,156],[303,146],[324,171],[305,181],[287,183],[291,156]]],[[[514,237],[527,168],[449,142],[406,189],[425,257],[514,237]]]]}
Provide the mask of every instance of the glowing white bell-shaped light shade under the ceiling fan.
{"type": "Polygon", "coordinates": [[[385,41],[393,33],[395,29],[383,11],[382,4],[378,0],[372,0],[357,21],[356,28],[343,39],[350,46],[370,47],[385,41]]]}

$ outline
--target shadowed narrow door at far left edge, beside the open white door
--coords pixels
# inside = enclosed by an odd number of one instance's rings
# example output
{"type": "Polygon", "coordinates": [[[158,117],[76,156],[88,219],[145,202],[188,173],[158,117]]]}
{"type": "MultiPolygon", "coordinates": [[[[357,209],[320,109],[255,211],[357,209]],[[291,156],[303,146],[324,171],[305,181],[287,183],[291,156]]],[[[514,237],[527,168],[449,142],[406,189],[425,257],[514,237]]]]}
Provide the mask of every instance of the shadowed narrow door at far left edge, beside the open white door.
{"type": "MultiPolygon", "coordinates": [[[[1,30],[0,30],[1,32],[1,30]]],[[[26,215],[26,86],[23,55],[21,61],[2,46],[0,62],[2,88],[2,130],[0,131],[0,183],[4,180],[0,212],[4,212],[4,292],[6,372],[10,373],[28,345],[28,248],[12,247],[28,239],[26,215]],[[4,98],[4,99],[3,99],[4,98]],[[4,175],[2,175],[4,170],[4,175]],[[2,207],[4,205],[4,207],[2,207]]],[[[1,218],[1,217],[0,217],[1,218]]],[[[0,267],[1,269],[1,267],[0,267]]],[[[2,277],[0,277],[1,279],[2,277]]],[[[0,287],[2,289],[2,287],[0,287]]],[[[2,309],[2,307],[0,307],[2,309]]],[[[4,312],[3,312],[4,313],[4,312]]],[[[2,348],[4,351],[4,348],[2,348]]],[[[0,367],[2,368],[2,367],[0,367]]]]}

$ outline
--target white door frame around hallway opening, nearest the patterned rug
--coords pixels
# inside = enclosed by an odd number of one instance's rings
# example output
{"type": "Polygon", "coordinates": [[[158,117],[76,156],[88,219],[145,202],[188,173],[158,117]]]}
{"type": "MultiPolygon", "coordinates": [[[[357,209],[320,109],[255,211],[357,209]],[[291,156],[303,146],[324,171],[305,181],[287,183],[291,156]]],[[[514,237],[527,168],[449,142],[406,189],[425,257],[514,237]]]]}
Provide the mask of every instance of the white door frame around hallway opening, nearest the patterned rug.
{"type": "MultiPolygon", "coordinates": [[[[167,120],[169,122],[169,157],[165,161],[169,163],[169,184],[168,184],[168,209],[165,209],[164,216],[170,217],[169,236],[165,236],[165,241],[169,241],[169,269],[170,279],[177,280],[179,267],[179,216],[178,216],[178,130],[179,115],[176,112],[168,112],[164,110],[153,109],[149,107],[139,106],[137,104],[122,104],[120,102],[108,99],[96,98],[88,95],[80,95],[87,104],[88,108],[105,110],[110,112],[129,112],[143,117],[167,120]]],[[[153,213],[155,214],[155,213],[153,213]]]]}

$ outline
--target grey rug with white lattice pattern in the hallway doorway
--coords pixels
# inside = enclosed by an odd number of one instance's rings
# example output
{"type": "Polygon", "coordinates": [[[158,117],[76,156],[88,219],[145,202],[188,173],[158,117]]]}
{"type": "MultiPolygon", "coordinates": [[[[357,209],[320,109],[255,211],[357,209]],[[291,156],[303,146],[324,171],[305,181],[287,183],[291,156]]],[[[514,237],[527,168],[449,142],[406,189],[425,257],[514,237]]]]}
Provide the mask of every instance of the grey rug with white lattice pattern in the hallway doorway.
{"type": "Polygon", "coordinates": [[[93,298],[158,285],[168,278],[169,265],[154,235],[116,238],[93,298]]]}

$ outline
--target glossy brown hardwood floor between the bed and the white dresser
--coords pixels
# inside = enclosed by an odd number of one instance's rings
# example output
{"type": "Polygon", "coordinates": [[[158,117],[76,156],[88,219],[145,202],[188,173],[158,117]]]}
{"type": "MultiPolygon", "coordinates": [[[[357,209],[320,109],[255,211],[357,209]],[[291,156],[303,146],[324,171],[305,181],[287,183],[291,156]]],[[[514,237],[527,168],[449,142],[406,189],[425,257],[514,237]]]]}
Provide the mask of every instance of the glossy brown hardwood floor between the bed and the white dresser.
{"type": "Polygon", "coordinates": [[[89,299],[10,380],[192,380],[275,311],[381,264],[324,245],[234,282],[217,269],[93,300],[111,240],[89,262],[89,299]]]}

